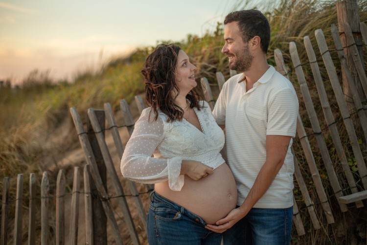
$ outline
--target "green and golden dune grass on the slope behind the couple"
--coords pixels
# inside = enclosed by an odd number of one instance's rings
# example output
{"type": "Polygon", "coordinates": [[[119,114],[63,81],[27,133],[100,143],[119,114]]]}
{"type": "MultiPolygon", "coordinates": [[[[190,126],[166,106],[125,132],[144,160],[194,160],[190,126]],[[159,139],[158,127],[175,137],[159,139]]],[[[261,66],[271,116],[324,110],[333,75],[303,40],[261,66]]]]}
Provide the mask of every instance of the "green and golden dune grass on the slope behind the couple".
{"type": "MultiPolygon", "coordinates": [[[[249,6],[252,6],[250,4],[251,1],[241,1],[233,8],[236,10],[249,8],[249,6]]],[[[367,2],[360,0],[358,4],[361,21],[366,21],[367,2]]],[[[275,65],[274,49],[280,49],[283,52],[285,63],[291,64],[289,56],[289,42],[291,41],[297,44],[301,62],[307,61],[306,52],[302,48],[303,37],[309,35],[313,46],[317,47],[314,31],[319,28],[325,34],[329,48],[334,48],[330,34],[330,25],[337,24],[335,1],[270,0],[266,1],[266,4],[256,7],[265,13],[271,25],[271,43],[267,54],[270,64],[275,65]]],[[[226,56],[221,53],[223,46],[222,24],[219,23],[215,31],[208,31],[203,37],[188,34],[185,40],[180,40],[177,43],[188,53],[192,62],[197,66],[196,76],[198,79],[205,76],[214,87],[216,84],[216,72],[220,71],[226,78],[229,77],[228,61],[226,56]]],[[[129,57],[112,59],[97,72],[87,71],[79,73],[70,83],[54,81],[48,76],[47,72],[42,73],[38,71],[30,73],[24,79],[24,83],[20,88],[12,88],[10,83],[5,82],[0,87],[0,193],[2,192],[2,178],[4,176],[10,177],[11,186],[14,189],[17,174],[23,173],[24,193],[27,196],[29,173],[36,173],[37,181],[40,183],[42,172],[49,171],[49,166],[55,164],[46,162],[46,159],[49,161],[47,155],[55,151],[56,148],[69,149],[70,142],[75,143],[78,141],[69,115],[70,107],[74,106],[78,111],[86,111],[89,107],[102,108],[103,103],[110,102],[113,109],[117,110],[120,99],[125,98],[130,102],[135,95],[142,93],[144,83],[140,75],[140,69],[145,57],[153,48],[140,48],[129,57]],[[65,120],[70,121],[69,139],[65,139],[60,145],[47,145],[48,137],[53,137],[55,129],[65,120]],[[47,147],[45,147],[46,145],[47,147]]],[[[367,53],[366,46],[363,49],[367,53]]],[[[336,53],[334,52],[332,55],[336,62],[335,66],[340,67],[336,53]]],[[[288,70],[293,70],[291,65],[287,66],[288,70]]],[[[307,70],[310,71],[310,69],[307,70]]],[[[311,89],[313,87],[313,91],[316,91],[312,83],[312,74],[306,71],[305,76],[309,87],[311,89]]],[[[325,69],[321,68],[321,74],[323,77],[327,77],[325,69]]],[[[289,75],[298,95],[300,95],[295,73],[291,72],[289,75]]],[[[330,85],[328,85],[326,90],[332,95],[330,85]]],[[[318,99],[316,92],[314,92],[314,96],[315,99],[318,99]]],[[[301,98],[300,101],[302,101],[301,98]]],[[[334,102],[335,98],[331,96],[330,103],[334,102]]],[[[323,117],[321,107],[316,107],[316,110],[323,117]]],[[[310,123],[302,103],[300,103],[300,115],[307,129],[307,127],[310,127],[310,123]]],[[[85,122],[85,115],[81,116],[85,122]]],[[[326,136],[325,140],[327,144],[332,145],[330,137],[326,136]]],[[[315,140],[312,138],[310,141],[315,143],[315,140]]],[[[345,138],[344,141],[347,142],[347,139],[345,138]]],[[[78,144],[71,144],[71,146],[79,147],[78,144]]],[[[347,143],[345,146],[346,151],[348,152],[348,149],[350,151],[350,146],[347,143]]],[[[299,146],[295,149],[301,157],[299,146]]],[[[316,156],[320,155],[317,148],[313,150],[316,156]]],[[[338,162],[335,152],[332,154],[332,157],[333,162],[338,162]]],[[[353,155],[348,154],[348,158],[351,165],[353,165],[353,155]]],[[[316,161],[320,168],[321,178],[326,191],[331,193],[326,171],[321,164],[322,160],[318,157],[316,161]]],[[[339,169],[337,172],[341,173],[342,171],[339,169]]],[[[306,176],[305,180],[312,191],[312,177],[306,176]]],[[[295,194],[297,198],[301,198],[300,195],[298,196],[297,186],[295,194]]],[[[15,191],[13,190],[11,191],[10,199],[14,200],[14,195],[15,191]]],[[[311,196],[314,200],[318,199],[313,192],[311,192],[311,196]]],[[[333,205],[335,208],[339,208],[337,204],[334,203],[333,205]]],[[[301,210],[303,217],[308,217],[305,207],[301,205],[300,208],[303,208],[301,210]]],[[[321,210],[317,210],[317,212],[322,213],[321,210]]],[[[323,227],[322,231],[314,231],[309,220],[305,220],[304,224],[308,236],[298,238],[296,235],[294,243],[328,244],[330,242],[341,244],[346,239],[342,238],[338,241],[335,231],[328,226],[323,227]]]]}

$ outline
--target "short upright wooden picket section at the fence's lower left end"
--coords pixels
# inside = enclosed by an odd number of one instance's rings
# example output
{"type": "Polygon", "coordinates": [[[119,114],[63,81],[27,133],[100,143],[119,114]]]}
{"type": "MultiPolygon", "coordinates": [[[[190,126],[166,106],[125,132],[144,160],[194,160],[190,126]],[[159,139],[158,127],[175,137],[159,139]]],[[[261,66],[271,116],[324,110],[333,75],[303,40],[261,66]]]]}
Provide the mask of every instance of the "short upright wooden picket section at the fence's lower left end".
{"type": "MultiPolygon", "coordinates": [[[[28,211],[28,244],[36,244],[36,176],[31,173],[29,176],[29,211],[28,211]]],[[[41,182],[41,244],[49,244],[49,200],[56,199],[56,244],[65,244],[65,206],[64,198],[66,196],[65,173],[59,170],[57,176],[56,196],[49,195],[49,179],[47,172],[43,173],[41,182]]],[[[84,191],[85,194],[85,216],[92,217],[92,202],[90,193],[89,165],[84,166],[84,191]]],[[[79,168],[74,168],[72,201],[71,201],[71,225],[69,229],[70,241],[68,244],[76,244],[78,233],[78,214],[79,214],[79,193],[80,193],[80,172],[79,168]]],[[[23,244],[23,174],[18,174],[17,194],[15,200],[15,221],[14,221],[14,244],[23,244]]],[[[9,179],[3,179],[2,193],[2,213],[1,213],[1,245],[7,244],[8,230],[8,206],[9,206],[9,179]]],[[[86,241],[92,236],[91,222],[86,219],[86,241]]],[[[88,244],[88,243],[87,243],[88,244]]]]}

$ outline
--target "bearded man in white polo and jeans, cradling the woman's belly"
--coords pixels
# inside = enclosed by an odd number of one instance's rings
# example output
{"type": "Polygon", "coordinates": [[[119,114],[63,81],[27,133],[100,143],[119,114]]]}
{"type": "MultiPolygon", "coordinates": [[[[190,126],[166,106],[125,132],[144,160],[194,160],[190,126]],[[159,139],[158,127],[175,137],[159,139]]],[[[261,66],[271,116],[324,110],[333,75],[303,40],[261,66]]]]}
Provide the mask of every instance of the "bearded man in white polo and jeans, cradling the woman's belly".
{"type": "Polygon", "coordinates": [[[289,244],[293,216],[292,138],[298,99],[291,82],[268,65],[270,26],[258,10],[230,13],[222,52],[241,71],[224,84],[213,110],[226,130],[238,207],[207,229],[225,245],[289,244]]]}

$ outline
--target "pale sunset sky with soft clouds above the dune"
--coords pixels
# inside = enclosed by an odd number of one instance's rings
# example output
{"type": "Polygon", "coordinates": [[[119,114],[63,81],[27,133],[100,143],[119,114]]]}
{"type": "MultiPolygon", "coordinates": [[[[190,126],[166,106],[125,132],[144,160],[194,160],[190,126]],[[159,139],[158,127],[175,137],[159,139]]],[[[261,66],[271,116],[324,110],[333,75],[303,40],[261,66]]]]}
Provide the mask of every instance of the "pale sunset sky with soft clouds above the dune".
{"type": "Polygon", "coordinates": [[[203,36],[241,0],[0,0],[0,80],[72,79],[160,40],[203,36]]]}

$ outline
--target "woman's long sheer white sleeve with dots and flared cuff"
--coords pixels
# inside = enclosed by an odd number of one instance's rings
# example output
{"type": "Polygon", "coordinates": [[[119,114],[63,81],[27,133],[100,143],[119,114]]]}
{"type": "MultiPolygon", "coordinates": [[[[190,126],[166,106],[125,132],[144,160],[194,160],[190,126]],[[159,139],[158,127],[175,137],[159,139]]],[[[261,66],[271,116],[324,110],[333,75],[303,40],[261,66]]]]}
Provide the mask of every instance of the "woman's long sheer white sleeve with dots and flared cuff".
{"type": "Polygon", "coordinates": [[[170,159],[155,158],[152,154],[161,143],[163,121],[154,121],[154,113],[149,118],[150,108],[144,109],[135,123],[135,129],[121,158],[121,173],[132,181],[154,184],[168,180],[171,190],[180,191],[184,185],[184,175],[180,175],[182,157],[170,159]]]}

